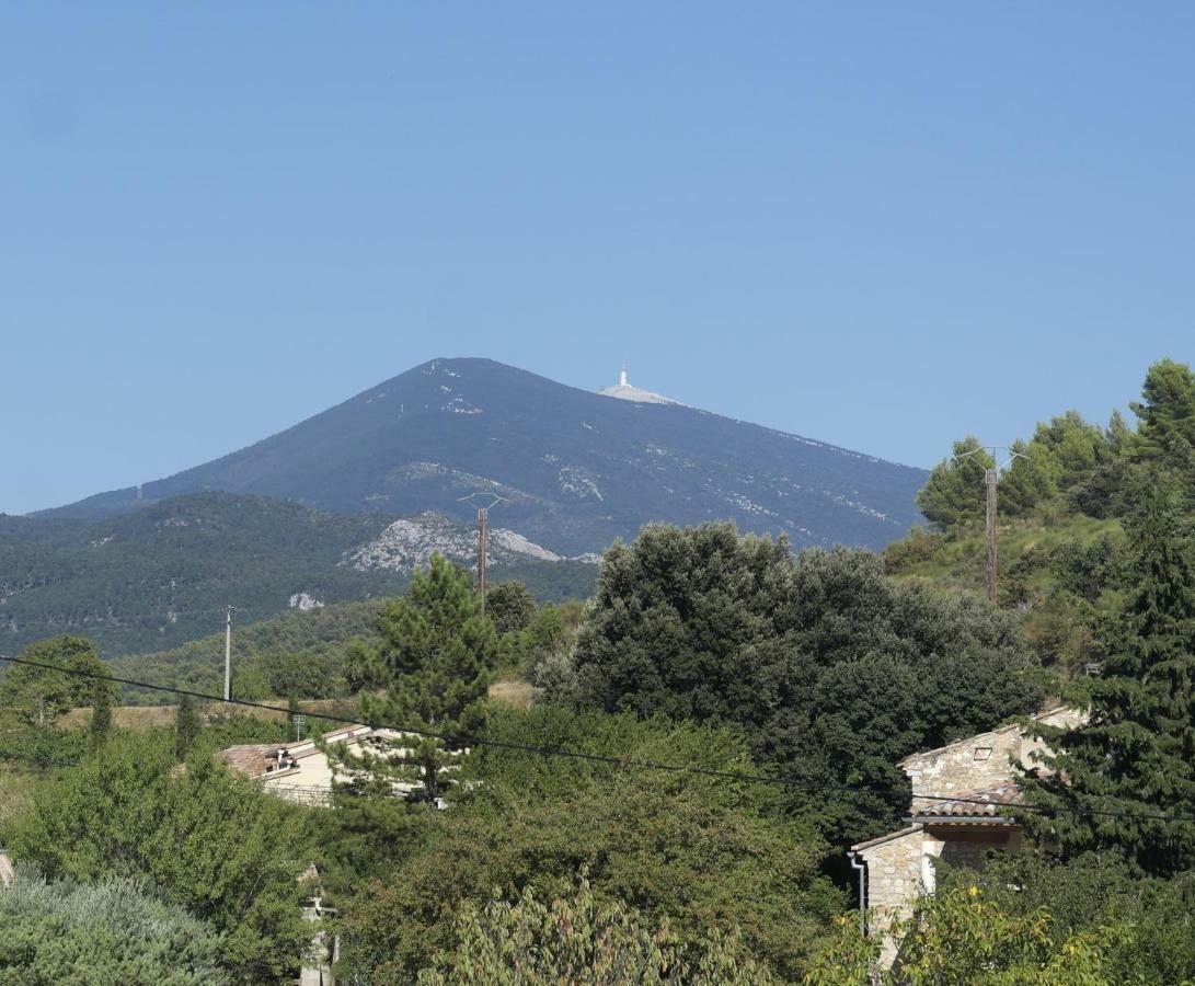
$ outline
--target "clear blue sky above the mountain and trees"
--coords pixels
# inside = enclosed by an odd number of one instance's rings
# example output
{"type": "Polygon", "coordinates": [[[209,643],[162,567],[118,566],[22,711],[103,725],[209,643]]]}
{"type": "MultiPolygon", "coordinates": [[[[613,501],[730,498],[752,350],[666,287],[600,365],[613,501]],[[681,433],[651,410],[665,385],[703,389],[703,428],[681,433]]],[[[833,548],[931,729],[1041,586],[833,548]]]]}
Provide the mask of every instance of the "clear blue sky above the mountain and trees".
{"type": "Polygon", "coordinates": [[[1195,359],[1195,5],[0,6],[0,510],[433,356],[930,465],[1195,359]]]}

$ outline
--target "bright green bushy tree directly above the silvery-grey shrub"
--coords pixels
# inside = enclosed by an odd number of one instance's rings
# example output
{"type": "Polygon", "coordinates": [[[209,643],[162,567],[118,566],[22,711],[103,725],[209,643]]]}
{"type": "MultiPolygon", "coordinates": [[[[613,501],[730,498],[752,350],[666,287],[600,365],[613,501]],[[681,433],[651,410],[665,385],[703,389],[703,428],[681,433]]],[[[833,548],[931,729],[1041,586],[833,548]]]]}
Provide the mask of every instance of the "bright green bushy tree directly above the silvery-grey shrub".
{"type": "Polygon", "coordinates": [[[311,937],[302,809],[202,752],[177,770],[164,736],[117,734],[103,755],[63,771],[13,823],[8,847],[51,878],[153,881],[223,933],[227,962],[243,974],[284,972],[311,937]]]}

